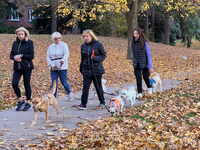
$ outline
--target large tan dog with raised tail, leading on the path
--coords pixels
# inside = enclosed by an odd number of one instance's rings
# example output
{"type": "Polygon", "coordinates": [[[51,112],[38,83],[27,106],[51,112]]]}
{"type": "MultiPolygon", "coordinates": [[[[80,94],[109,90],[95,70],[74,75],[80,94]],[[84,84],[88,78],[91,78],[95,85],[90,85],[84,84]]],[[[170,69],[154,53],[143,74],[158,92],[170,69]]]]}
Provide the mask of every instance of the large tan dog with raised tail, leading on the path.
{"type": "Polygon", "coordinates": [[[53,91],[49,94],[46,95],[41,95],[39,97],[35,97],[32,99],[32,105],[33,105],[33,110],[34,110],[34,121],[32,124],[36,123],[36,117],[38,114],[38,111],[40,112],[45,112],[46,118],[45,121],[48,121],[48,109],[50,105],[53,105],[54,108],[57,111],[57,116],[59,116],[59,111],[58,111],[58,102],[54,96],[56,90],[56,80],[53,82],[53,91]]]}

